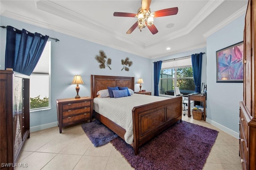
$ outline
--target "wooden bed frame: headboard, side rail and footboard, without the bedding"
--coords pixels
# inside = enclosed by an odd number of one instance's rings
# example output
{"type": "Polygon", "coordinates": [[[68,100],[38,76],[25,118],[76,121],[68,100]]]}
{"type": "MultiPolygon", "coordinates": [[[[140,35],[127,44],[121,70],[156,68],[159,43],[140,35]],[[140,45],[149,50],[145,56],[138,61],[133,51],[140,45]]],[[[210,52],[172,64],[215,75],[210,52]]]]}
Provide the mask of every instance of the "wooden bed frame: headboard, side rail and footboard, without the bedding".
{"type": "MultiPolygon", "coordinates": [[[[91,75],[92,98],[97,97],[99,90],[116,86],[128,87],[134,90],[134,77],[91,75]]],[[[133,141],[130,145],[134,149],[134,154],[137,155],[140,146],[156,137],[177,121],[181,122],[182,97],[166,98],[166,100],[135,106],[132,108],[131,114],[133,141]]],[[[123,127],[95,110],[93,111],[93,117],[125,140],[126,130],[123,127]]]]}

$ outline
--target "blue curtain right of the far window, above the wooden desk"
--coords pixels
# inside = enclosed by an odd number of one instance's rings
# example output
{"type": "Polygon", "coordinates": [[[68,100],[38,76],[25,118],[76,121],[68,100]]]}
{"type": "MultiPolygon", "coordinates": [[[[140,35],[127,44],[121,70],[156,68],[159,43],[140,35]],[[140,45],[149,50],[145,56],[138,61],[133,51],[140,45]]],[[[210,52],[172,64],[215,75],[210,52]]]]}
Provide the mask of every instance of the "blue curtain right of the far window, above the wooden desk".
{"type": "Polygon", "coordinates": [[[194,83],[196,86],[196,89],[195,89],[196,93],[201,93],[202,56],[203,56],[203,53],[191,55],[193,77],[194,77],[194,83]]]}

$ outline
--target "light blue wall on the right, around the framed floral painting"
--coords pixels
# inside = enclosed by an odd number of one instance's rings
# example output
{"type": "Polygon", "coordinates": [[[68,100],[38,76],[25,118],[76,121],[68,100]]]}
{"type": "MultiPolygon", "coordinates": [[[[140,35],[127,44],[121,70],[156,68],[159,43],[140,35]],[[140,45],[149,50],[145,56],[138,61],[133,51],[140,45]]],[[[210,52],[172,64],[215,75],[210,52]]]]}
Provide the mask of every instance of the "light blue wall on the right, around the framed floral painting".
{"type": "Polygon", "coordinates": [[[216,51],[243,41],[245,15],[207,37],[207,118],[239,132],[243,83],[216,83],[216,51]]]}

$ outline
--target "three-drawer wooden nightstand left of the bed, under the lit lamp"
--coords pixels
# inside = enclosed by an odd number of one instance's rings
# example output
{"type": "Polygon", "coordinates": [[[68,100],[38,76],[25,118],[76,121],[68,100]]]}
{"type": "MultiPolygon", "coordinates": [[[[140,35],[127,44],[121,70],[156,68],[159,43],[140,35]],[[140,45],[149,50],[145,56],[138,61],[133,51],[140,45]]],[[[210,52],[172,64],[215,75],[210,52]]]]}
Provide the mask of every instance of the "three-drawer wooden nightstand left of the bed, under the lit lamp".
{"type": "Polygon", "coordinates": [[[90,122],[92,122],[93,98],[67,98],[58,99],[56,102],[60,133],[62,133],[62,127],[86,120],[90,120],[90,122]]]}

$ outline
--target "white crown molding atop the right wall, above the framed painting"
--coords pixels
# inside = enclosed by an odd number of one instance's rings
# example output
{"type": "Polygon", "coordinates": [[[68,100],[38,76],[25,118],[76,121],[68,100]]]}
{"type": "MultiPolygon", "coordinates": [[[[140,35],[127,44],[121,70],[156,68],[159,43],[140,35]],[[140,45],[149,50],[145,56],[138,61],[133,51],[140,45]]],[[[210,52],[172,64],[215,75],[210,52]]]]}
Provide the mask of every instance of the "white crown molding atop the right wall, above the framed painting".
{"type": "Polygon", "coordinates": [[[206,33],[203,34],[205,38],[209,37],[219,29],[223,28],[224,26],[228,25],[230,22],[236,20],[238,17],[242,16],[243,14],[246,13],[247,5],[243,6],[240,10],[238,10],[236,13],[234,13],[232,16],[226,18],[224,21],[207,31],[206,33]]]}

